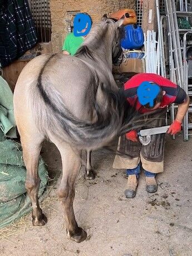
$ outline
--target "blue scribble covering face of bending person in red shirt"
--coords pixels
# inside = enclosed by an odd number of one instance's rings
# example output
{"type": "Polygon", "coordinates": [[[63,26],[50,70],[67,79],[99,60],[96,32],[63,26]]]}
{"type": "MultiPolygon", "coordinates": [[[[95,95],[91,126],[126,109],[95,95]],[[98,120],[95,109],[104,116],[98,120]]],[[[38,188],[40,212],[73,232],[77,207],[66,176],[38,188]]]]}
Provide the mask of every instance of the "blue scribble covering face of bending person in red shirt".
{"type": "Polygon", "coordinates": [[[137,96],[141,105],[149,103],[150,107],[154,107],[154,100],[160,92],[159,85],[150,82],[142,82],[137,88],[137,96]]]}

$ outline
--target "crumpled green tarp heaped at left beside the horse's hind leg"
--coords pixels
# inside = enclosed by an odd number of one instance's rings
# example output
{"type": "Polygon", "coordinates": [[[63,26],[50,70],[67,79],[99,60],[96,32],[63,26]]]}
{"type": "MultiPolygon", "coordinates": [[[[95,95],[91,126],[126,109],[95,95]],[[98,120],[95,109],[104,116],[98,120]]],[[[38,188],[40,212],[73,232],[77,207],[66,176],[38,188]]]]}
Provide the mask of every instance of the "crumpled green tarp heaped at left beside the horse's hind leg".
{"type": "MultiPolygon", "coordinates": [[[[31,201],[24,187],[26,168],[21,144],[8,137],[16,137],[13,94],[7,82],[0,76],[0,228],[6,227],[32,210],[31,201]]],[[[41,200],[48,180],[42,159],[38,173],[41,179],[38,195],[41,200]]]]}

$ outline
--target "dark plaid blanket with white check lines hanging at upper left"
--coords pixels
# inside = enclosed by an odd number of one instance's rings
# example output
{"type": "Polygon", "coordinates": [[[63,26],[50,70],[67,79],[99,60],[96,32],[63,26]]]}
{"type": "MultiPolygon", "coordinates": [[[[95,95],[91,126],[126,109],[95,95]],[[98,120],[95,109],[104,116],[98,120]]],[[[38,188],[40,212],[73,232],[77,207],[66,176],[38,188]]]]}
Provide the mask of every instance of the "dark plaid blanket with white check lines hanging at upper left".
{"type": "Polygon", "coordinates": [[[7,66],[35,46],[37,33],[27,0],[0,0],[0,63],[7,66]]]}

